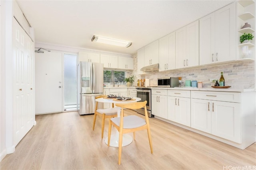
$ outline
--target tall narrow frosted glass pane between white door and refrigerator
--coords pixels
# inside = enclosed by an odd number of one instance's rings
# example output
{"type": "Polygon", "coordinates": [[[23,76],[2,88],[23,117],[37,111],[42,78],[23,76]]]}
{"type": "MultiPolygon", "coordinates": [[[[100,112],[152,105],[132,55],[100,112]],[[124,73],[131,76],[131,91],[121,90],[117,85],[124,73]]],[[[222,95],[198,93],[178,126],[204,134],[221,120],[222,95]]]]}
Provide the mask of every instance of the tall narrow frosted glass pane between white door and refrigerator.
{"type": "Polygon", "coordinates": [[[77,55],[64,54],[64,111],[77,109],[77,55]]]}

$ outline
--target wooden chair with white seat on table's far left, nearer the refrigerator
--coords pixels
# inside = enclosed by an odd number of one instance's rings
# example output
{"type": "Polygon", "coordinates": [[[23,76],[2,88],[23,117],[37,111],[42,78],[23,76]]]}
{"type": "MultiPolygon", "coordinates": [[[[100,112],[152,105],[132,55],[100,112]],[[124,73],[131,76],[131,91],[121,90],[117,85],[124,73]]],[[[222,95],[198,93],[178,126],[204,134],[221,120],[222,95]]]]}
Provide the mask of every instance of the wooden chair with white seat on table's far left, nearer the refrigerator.
{"type": "MultiPolygon", "coordinates": [[[[107,97],[108,96],[102,95],[102,96],[97,96],[95,98],[98,99],[98,98],[107,98],[107,97]]],[[[98,102],[96,102],[92,130],[94,130],[97,115],[102,117],[101,138],[103,138],[105,119],[112,118],[112,117],[117,117],[117,108],[115,108],[114,104],[112,103],[112,107],[111,108],[108,108],[108,109],[98,109],[98,102]]]]}

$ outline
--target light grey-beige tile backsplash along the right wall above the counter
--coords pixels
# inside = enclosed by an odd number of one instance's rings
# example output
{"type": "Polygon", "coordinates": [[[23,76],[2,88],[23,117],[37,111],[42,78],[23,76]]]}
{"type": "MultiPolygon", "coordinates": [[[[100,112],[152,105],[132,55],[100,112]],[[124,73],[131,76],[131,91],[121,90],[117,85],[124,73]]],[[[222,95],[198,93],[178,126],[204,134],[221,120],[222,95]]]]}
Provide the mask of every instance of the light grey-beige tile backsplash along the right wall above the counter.
{"type": "MultiPolygon", "coordinates": [[[[220,72],[223,71],[225,86],[235,89],[254,89],[255,88],[255,63],[230,63],[215,66],[202,66],[186,70],[170,70],[165,72],[150,72],[150,74],[137,75],[137,55],[134,58],[134,71],[131,74],[137,79],[149,78],[150,86],[157,86],[157,78],[162,77],[182,77],[181,86],[185,86],[185,80],[197,80],[203,82],[203,88],[214,86],[210,79],[220,79],[220,72]]],[[[135,84],[134,84],[135,86],[135,84]]]]}

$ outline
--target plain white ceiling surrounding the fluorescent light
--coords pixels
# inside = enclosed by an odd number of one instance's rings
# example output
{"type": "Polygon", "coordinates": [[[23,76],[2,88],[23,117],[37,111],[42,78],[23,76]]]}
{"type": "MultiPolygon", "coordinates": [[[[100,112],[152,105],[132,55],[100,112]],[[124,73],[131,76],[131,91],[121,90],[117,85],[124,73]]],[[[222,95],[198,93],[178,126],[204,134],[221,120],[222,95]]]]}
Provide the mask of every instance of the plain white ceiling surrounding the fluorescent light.
{"type": "Polygon", "coordinates": [[[18,0],[36,42],[134,54],[152,41],[233,0],[18,0]],[[93,35],[132,42],[118,47],[92,42],[93,35]]]}

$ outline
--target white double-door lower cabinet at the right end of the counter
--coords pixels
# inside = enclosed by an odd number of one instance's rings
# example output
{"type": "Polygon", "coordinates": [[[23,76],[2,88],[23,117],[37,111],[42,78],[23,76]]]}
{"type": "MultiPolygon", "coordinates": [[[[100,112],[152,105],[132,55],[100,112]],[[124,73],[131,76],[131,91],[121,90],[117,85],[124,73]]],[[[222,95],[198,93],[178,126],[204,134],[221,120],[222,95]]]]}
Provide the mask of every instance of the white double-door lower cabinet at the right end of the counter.
{"type": "MultiPolygon", "coordinates": [[[[195,99],[197,95],[194,93],[191,92],[191,127],[241,143],[240,103],[225,102],[225,98],[223,101],[195,99]]],[[[223,95],[223,92],[219,94],[223,95]]],[[[205,92],[205,96],[219,100],[216,92],[215,95],[205,92]]]]}

